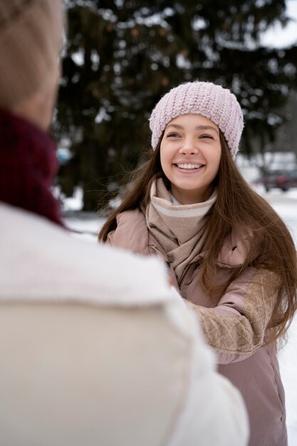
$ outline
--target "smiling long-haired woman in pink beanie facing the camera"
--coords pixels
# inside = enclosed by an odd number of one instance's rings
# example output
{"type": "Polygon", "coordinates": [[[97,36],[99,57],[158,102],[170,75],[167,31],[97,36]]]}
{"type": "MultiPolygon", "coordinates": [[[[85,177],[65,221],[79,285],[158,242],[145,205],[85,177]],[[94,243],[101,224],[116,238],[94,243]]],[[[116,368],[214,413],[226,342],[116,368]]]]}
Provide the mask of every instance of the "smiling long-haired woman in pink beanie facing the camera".
{"type": "Polygon", "coordinates": [[[286,446],[276,343],[296,311],[296,249],[234,164],[239,103],[219,85],[182,84],[157,103],[150,129],[152,157],[99,239],[164,259],[219,371],[244,396],[249,445],[286,446]]]}

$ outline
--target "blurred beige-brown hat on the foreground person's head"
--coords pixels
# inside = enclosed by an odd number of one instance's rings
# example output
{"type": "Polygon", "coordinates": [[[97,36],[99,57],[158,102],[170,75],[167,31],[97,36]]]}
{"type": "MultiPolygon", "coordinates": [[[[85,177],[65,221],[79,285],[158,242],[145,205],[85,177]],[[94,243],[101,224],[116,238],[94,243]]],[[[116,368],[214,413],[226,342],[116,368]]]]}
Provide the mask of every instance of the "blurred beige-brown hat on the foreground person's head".
{"type": "Polygon", "coordinates": [[[11,109],[55,76],[62,0],[0,0],[0,107],[11,109]]]}

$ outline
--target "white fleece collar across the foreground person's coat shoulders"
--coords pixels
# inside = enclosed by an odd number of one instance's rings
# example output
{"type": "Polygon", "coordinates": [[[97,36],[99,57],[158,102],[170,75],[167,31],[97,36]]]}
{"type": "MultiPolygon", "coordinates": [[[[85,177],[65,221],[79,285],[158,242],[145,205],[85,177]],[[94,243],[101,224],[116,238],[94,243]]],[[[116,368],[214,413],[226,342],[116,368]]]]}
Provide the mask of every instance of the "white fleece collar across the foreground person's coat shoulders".
{"type": "Polygon", "coordinates": [[[162,261],[88,244],[45,218],[2,203],[0,244],[2,302],[154,306],[172,300],[162,261]]]}

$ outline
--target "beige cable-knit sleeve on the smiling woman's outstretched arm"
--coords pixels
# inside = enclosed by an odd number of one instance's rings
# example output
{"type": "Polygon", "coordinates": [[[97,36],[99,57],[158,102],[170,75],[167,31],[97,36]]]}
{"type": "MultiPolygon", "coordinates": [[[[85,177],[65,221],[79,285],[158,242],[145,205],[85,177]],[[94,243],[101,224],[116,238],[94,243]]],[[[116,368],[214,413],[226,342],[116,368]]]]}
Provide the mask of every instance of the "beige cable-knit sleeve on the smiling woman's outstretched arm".
{"type": "Polygon", "coordinates": [[[199,315],[204,337],[217,352],[218,363],[241,361],[263,345],[279,287],[276,274],[260,269],[247,283],[244,277],[234,280],[214,308],[187,301],[199,315]]]}

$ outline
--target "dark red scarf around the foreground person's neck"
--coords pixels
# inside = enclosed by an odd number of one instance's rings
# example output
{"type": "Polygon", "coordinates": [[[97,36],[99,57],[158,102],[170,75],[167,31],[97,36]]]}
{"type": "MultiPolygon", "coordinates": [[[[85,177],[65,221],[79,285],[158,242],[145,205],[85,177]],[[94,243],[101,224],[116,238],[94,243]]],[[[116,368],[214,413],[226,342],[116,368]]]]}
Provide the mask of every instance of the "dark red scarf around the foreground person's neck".
{"type": "Polygon", "coordinates": [[[0,110],[0,201],[64,226],[51,192],[57,168],[51,135],[0,110]]]}

